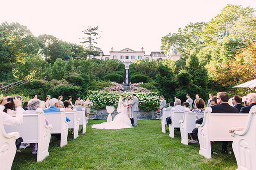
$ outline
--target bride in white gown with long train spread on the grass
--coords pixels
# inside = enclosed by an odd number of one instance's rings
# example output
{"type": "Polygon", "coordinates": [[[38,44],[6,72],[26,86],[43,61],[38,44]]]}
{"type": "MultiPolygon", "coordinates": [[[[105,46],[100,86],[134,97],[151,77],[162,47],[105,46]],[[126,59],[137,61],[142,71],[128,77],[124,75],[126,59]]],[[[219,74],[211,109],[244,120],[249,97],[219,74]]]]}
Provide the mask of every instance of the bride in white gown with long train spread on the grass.
{"type": "Polygon", "coordinates": [[[115,116],[114,120],[111,122],[103,122],[102,124],[94,124],[91,126],[94,129],[124,129],[124,128],[133,128],[131,124],[131,120],[129,117],[124,113],[124,96],[121,95],[118,101],[117,106],[117,113],[118,115],[115,116]]]}

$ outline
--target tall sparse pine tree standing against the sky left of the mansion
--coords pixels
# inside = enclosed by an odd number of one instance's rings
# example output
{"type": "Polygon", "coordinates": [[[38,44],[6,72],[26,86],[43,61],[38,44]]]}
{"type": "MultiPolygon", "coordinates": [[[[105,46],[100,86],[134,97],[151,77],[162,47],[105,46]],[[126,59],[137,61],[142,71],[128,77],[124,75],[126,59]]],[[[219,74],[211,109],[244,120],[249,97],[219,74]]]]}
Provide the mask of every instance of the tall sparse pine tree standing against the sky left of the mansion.
{"type": "Polygon", "coordinates": [[[89,56],[95,56],[98,55],[100,51],[102,51],[100,48],[95,46],[97,44],[96,40],[100,39],[98,25],[95,27],[89,26],[86,30],[82,31],[86,37],[82,38],[84,41],[82,41],[82,44],[85,44],[86,52],[89,56]]]}

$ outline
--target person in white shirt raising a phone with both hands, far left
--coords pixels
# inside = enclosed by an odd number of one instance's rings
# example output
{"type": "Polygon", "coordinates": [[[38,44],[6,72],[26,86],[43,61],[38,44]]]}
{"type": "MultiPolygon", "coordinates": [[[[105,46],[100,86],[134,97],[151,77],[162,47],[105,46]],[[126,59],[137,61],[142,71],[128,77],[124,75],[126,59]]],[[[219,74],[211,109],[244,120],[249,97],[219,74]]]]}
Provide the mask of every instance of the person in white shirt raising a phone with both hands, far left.
{"type": "Polygon", "coordinates": [[[4,105],[7,103],[11,103],[11,101],[7,101],[8,98],[10,98],[11,96],[7,96],[4,97],[1,105],[0,105],[0,114],[1,114],[1,118],[3,121],[3,124],[7,124],[7,125],[21,125],[23,123],[23,115],[22,113],[25,111],[22,107],[21,107],[21,99],[17,97],[15,97],[13,99],[13,102],[16,106],[16,116],[10,116],[7,113],[3,112],[4,110],[4,105]]]}

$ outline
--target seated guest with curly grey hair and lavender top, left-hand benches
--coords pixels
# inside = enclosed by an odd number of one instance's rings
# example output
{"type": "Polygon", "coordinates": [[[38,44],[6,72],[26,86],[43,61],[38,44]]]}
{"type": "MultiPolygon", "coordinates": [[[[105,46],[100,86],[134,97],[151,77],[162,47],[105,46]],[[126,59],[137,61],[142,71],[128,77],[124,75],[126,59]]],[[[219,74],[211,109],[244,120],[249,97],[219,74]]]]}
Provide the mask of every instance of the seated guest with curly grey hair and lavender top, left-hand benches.
{"type": "MultiPolygon", "coordinates": [[[[23,114],[38,114],[36,112],[37,108],[41,108],[41,101],[39,99],[31,99],[28,103],[28,110],[23,112],[23,114]]],[[[45,119],[45,124],[49,125],[49,122],[47,119],[45,119]]],[[[30,143],[30,148],[31,148],[32,154],[37,153],[37,150],[38,150],[37,143],[30,143]]]]}

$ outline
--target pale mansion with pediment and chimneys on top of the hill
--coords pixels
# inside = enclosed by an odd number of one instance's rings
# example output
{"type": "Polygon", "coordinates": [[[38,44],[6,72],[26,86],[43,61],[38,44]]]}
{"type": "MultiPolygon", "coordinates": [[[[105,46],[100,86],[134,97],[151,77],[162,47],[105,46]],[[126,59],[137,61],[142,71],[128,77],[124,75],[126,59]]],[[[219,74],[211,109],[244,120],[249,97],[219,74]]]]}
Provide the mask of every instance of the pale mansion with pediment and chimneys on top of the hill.
{"type": "Polygon", "coordinates": [[[164,53],[161,53],[159,51],[152,51],[150,55],[145,55],[145,51],[143,51],[143,48],[141,48],[141,51],[134,51],[134,50],[131,50],[130,48],[125,48],[124,50],[120,50],[120,51],[113,51],[113,50],[114,49],[111,48],[111,51],[109,51],[110,55],[101,54],[100,56],[95,56],[94,58],[103,59],[103,60],[118,59],[123,64],[125,64],[125,69],[129,69],[129,65],[139,59],[164,60],[166,58],[170,58],[174,61],[177,61],[181,58],[181,54],[178,53],[176,50],[171,50],[170,56],[167,56],[164,53]]]}

